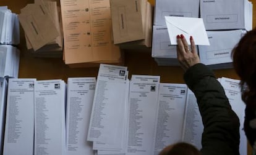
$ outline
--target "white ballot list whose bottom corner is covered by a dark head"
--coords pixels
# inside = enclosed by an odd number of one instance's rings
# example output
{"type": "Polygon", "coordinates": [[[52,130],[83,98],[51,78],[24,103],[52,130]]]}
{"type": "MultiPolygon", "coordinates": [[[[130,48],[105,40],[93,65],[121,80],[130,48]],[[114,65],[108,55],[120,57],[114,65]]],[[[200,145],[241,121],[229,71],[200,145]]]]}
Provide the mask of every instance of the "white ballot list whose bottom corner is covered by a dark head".
{"type": "Polygon", "coordinates": [[[153,143],[155,155],[166,146],[182,140],[186,97],[186,84],[160,84],[153,143]]]}

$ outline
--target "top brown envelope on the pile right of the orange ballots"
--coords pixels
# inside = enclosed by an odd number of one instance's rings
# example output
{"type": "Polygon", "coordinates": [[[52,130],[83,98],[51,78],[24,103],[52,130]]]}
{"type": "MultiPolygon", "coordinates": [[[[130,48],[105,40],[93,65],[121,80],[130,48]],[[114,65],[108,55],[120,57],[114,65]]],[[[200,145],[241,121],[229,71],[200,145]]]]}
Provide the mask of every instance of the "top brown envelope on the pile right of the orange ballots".
{"type": "Polygon", "coordinates": [[[114,44],[145,39],[142,12],[146,8],[142,3],[143,0],[110,1],[114,44]]]}

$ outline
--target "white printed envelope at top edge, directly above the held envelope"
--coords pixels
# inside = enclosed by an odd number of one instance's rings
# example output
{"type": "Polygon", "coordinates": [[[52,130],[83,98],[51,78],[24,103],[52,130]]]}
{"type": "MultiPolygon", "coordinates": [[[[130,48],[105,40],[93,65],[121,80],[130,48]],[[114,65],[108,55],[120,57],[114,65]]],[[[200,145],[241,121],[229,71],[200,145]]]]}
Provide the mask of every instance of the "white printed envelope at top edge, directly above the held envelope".
{"type": "Polygon", "coordinates": [[[199,17],[199,0],[156,0],[154,25],[166,25],[165,16],[199,17]]]}

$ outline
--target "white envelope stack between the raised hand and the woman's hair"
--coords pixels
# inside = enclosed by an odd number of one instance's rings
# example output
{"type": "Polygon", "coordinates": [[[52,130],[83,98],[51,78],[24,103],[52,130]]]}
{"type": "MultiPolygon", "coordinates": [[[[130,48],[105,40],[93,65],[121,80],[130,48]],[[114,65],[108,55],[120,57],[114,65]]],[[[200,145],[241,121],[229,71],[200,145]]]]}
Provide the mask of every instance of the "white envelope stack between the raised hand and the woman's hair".
{"type": "Polygon", "coordinates": [[[198,46],[200,62],[213,69],[232,67],[232,50],[246,33],[244,30],[207,31],[210,46],[198,46]]]}

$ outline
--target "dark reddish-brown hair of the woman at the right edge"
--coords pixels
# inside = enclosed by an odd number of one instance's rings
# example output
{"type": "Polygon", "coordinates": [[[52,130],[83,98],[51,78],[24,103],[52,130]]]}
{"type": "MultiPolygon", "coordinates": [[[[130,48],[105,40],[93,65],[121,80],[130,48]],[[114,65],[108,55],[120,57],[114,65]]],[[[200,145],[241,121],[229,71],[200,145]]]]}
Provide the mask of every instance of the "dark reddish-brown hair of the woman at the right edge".
{"type": "Polygon", "coordinates": [[[241,78],[241,85],[247,85],[242,99],[256,108],[256,29],[247,32],[233,49],[233,66],[241,78]]]}

